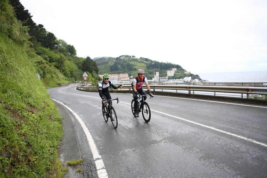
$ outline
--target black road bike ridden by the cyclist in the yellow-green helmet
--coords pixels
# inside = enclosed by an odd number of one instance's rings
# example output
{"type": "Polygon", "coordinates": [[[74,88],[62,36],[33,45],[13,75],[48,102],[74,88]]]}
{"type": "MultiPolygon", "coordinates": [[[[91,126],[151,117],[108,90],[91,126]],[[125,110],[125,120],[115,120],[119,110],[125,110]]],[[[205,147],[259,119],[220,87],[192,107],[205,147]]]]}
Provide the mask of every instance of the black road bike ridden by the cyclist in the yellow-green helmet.
{"type": "Polygon", "coordinates": [[[102,114],[103,114],[104,120],[106,122],[110,118],[113,127],[114,128],[117,128],[117,126],[118,126],[118,120],[117,120],[117,115],[116,115],[115,109],[111,105],[111,101],[112,100],[117,100],[117,103],[119,103],[119,99],[118,98],[105,100],[105,107],[104,107],[105,108],[105,113],[102,111],[102,114]]]}

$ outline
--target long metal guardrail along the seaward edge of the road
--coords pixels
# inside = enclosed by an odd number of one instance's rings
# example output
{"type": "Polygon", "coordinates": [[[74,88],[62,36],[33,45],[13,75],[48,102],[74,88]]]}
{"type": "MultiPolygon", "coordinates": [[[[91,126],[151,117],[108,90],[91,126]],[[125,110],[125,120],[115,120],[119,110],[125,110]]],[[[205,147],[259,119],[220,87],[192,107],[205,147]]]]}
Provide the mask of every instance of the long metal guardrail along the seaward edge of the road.
{"type": "MultiPolygon", "coordinates": [[[[146,86],[143,85],[143,88],[146,89],[146,86]]],[[[79,90],[96,90],[96,86],[81,86],[77,85],[77,89],[79,90]]],[[[131,85],[123,85],[120,90],[132,90],[131,85]]],[[[204,92],[214,92],[214,96],[216,96],[216,92],[219,93],[239,93],[241,94],[241,98],[243,98],[243,94],[246,94],[246,98],[250,98],[251,94],[259,94],[259,95],[267,95],[267,87],[242,87],[242,86],[202,86],[202,85],[151,85],[150,90],[165,90],[164,92],[178,92],[178,90],[184,90],[188,94],[199,94],[195,93],[195,91],[204,91],[204,92]],[[173,90],[173,91],[166,91],[173,90]]],[[[202,93],[205,94],[205,93],[202,93]]],[[[217,95],[225,95],[225,94],[217,94],[217,95]]],[[[235,95],[229,95],[235,96],[235,95]]],[[[252,96],[253,97],[253,96],[252,96]]],[[[265,98],[265,97],[262,97],[265,98]]]]}

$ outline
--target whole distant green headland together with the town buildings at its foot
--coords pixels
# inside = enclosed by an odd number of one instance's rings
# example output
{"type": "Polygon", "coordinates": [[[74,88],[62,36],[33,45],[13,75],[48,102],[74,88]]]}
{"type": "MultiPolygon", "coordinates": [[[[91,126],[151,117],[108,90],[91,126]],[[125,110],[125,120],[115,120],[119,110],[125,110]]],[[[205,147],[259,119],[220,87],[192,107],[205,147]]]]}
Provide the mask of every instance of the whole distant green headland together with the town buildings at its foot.
{"type": "Polygon", "coordinates": [[[178,64],[153,61],[148,58],[136,58],[131,55],[121,55],[119,57],[97,57],[93,58],[98,66],[100,77],[103,74],[110,74],[110,78],[124,81],[137,76],[138,69],[144,69],[148,80],[166,81],[191,77],[192,80],[201,80],[198,75],[191,74],[178,64]],[[166,77],[168,79],[166,79],[166,77]]]}

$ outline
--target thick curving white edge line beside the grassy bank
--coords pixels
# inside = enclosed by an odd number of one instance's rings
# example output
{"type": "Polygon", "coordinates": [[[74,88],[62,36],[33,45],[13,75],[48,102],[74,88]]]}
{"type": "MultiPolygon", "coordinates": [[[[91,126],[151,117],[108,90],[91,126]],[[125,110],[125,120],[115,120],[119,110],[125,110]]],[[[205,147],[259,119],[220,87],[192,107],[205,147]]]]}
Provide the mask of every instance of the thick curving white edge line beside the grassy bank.
{"type": "Polygon", "coordinates": [[[101,155],[99,155],[98,150],[96,148],[96,144],[95,144],[95,142],[93,140],[93,137],[91,136],[88,128],[85,126],[85,123],[81,120],[81,118],[72,109],[70,109],[65,104],[61,103],[60,101],[57,101],[55,99],[53,99],[53,100],[55,102],[61,104],[62,106],[66,107],[76,117],[76,119],[79,121],[79,123],[81,124],[82,129],[83,129],[83,131],[84,131],[84,133],[85,133],[85,135],[87,137],[89,147],[90,147],[90,149],[92,151],[93,158],[94,158],[95,164],[96,164],[98,177],[99,178],[108,178],[108,174],[107,174],[107,171],[105,169],[105,165],[104,165],[104,162],[102,160],[102,157],[101,157],[101,155]]]}

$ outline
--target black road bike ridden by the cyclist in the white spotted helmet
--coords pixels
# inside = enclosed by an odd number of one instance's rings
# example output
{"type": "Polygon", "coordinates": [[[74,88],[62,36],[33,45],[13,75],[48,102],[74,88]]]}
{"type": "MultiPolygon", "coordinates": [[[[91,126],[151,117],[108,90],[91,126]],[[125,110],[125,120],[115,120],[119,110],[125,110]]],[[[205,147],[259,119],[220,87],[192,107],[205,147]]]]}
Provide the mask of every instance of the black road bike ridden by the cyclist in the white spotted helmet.
{"type": "MultiPolygon", "coordinates": [[[[150,107],[148,106],[147,102],[145,102],[143,99],[144,96],[147,96],[147,95],[141,95],[140,98],[137,100],[138,103],[137,103],[136,110],[137,110],[138,114],[142,110],[142,115],[143,115],[144,121],[146,123],[148,123],[150,121],[151,112],[150,112],[150,107]]],[[[134,97],[134,96],[132,96],[132,97],[134,97]]],[[[150,96],[149,99],[151,99],[152,97],[154,97],[154,96],[153,95],[150,96]]],[[[131,106],[132,106],[132,113],[134,115],[134,99],[132,100],[131,106]]],[[[134,115],[134,117],[135,117],[135,115],[134,115]]]]}

